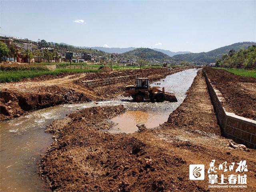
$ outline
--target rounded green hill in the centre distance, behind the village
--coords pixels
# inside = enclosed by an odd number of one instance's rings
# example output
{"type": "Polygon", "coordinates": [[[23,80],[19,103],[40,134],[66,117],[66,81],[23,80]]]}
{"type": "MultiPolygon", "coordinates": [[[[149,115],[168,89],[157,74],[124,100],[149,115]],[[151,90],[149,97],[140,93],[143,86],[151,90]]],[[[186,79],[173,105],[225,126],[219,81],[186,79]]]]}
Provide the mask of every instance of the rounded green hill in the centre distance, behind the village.
{"type": "Polygon", "coordinates": [[[124,56],[125,58],[129,59],[140,59],[143,58],[145,60],[157,60],[157,61],[164,61],[164,60],[173,60],[172,57],[168,56],[159,51],[155,51],[150,48],[136,48],[134,50],[125,52],[120,54],[120,56],[124,56]]]}

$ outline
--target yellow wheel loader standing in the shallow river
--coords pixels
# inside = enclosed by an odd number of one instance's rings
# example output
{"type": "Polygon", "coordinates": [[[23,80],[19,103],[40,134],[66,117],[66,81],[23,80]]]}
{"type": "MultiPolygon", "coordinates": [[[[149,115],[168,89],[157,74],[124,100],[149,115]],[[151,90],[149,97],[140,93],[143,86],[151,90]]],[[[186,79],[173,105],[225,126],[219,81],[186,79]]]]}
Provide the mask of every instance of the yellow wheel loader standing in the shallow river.
{"type": "Polygon", "coordinates": [[[150,99],[152,102],[177,102],[176,96],[165,92],[164,87],[150,87],[148,78],[136,78],[135,85],[126,86],[124,96],[132,97],[136,102],[142,102],[144,99],[150,99]]]}

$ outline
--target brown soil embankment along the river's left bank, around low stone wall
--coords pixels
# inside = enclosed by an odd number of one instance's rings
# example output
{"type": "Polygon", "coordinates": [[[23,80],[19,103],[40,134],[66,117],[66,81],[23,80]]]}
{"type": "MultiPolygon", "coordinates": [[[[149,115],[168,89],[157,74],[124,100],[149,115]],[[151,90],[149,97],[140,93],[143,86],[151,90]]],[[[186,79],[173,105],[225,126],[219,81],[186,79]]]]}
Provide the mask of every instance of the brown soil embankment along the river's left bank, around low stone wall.
{"type": "Polygon", "coordinates": [[[112,98],[120,94],[124,86],[134,82],[134,77],[128,82],[114,85],[88,88],[82,83],[86,80],[96,80],[143,74],[150,80],[158,80],[169,74],[173,74],[184,68],[149,68],[143,70],[127,70],[108,73],[86,73],[60,76],[60,78],[35,78],[30,81],[0,84],[0,120],[18,117],[30,110],[46,108],[63,103],[98,101],[112,98]]]}

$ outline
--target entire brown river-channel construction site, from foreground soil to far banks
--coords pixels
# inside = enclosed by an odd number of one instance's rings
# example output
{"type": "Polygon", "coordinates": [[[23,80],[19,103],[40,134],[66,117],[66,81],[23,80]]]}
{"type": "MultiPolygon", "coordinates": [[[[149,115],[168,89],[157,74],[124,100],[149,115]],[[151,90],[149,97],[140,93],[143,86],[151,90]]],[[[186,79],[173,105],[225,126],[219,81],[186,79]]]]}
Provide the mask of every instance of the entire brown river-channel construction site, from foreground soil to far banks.
{"type": "Polygon", "coordinates": [[[0,90],[3,192],[256,190],[256,78],[182,66],[47,75],[0,90]],[[228,184],[219,165],[234,162],[236,175],[240,161],[246,183],[228,184]],[[190,179],[191,164],[205,166],[204,180],[190,179]]]}

